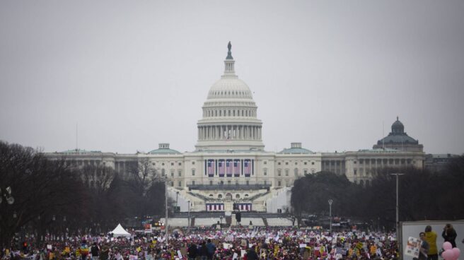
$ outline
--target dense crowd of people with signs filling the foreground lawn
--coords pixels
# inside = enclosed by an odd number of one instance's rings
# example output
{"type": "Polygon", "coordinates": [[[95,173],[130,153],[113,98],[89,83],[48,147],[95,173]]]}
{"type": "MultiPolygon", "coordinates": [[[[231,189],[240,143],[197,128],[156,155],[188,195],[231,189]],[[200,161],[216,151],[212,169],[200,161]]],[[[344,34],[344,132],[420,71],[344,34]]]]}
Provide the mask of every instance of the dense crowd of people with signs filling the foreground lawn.
{"type": "Polygon", "coordinates": [[[3,249],[2,260],[398,259],[395,234],[298,228],[201,228],[131,237],[60,237],[39,246],[3,249]]]}

